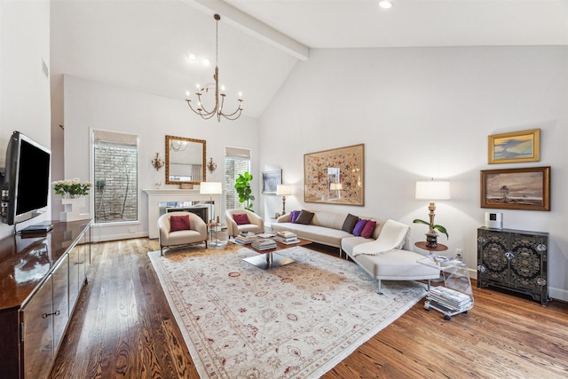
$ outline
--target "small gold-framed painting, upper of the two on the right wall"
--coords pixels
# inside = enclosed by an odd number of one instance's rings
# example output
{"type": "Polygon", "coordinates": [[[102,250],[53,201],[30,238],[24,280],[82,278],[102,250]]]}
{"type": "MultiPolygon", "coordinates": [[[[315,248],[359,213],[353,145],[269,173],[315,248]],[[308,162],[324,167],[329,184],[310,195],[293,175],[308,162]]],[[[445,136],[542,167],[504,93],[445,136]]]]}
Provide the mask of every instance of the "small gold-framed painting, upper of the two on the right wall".
{"type": "Polygon", "coordinates": [[[540,129],[489,136],[487,161],[489,164],[539,162],[540,129]]]}

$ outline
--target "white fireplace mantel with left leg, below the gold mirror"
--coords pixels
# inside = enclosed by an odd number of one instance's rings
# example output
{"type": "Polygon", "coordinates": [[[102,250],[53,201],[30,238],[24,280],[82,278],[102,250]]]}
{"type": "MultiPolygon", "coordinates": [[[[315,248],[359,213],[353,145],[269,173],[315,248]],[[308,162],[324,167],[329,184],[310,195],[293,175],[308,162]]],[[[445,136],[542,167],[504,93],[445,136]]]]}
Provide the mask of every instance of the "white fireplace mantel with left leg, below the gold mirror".
{"type": "MultiPolygon", "coordinates": [[[[201,194],[198,189],[143,189],[148,195],[148,237],[158,238],[158,217],[160,203],[167,201],[209,201],[209,194],[201,194]]],[[[213,201],[221,203],[221,195],[214,194],[213,201]]]]}

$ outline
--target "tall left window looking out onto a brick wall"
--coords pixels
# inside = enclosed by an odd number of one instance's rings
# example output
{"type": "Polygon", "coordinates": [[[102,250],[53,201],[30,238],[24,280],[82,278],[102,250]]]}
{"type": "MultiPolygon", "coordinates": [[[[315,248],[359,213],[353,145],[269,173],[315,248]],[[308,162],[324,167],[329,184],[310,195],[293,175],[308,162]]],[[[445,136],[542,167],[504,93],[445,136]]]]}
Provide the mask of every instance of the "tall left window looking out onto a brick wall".
{"type": "Polygon", "coordinates": [[[138,220],[138,136],[92,130],[95,223],[138,220]]]}

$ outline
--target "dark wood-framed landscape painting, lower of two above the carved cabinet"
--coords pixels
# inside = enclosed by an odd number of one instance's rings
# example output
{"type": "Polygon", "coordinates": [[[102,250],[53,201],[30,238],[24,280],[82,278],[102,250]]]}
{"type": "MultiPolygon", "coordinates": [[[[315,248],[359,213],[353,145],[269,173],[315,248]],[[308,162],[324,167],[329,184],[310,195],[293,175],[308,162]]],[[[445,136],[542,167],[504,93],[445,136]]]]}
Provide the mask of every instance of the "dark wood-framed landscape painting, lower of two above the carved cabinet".
{"type": "Polygon", "coordinates": [[[550,167],[482,170],[481,208],[550,210],[550,167]]]}

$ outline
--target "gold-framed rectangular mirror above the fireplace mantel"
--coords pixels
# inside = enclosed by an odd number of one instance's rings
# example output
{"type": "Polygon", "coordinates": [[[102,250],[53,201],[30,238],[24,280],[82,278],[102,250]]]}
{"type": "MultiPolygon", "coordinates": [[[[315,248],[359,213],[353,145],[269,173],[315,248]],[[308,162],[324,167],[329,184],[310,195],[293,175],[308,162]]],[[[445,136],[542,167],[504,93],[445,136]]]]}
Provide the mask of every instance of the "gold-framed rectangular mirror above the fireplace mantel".
{"type": "Polygon", "coordinates": [[[205,140],[166,136],[166,184],[205,181],[205,140]]]}

